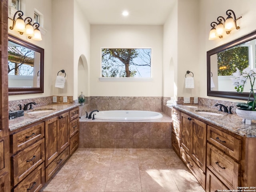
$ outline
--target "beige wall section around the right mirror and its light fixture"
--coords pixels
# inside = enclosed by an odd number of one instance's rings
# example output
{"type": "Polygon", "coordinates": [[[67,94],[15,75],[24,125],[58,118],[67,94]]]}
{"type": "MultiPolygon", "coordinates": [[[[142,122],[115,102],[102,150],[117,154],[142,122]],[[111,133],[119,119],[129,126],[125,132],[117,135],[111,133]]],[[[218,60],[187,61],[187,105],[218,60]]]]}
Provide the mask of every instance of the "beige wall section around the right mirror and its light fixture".
{"type": "Polygon", "coordinates": [[[202,24],[200,27],[200,41],[199,41],[199,62],[198,62],[198,72],[200,72],[200,84],[199,84],[199,96],[204,98],[214,98],[222,100],[230,100],[225,98],[216,98],[207,96],[207,85],[206,85],[206,52],[230,42],[236,38],[244,36],[249,32],[252,32],[256,29],[256,12],[254,7],[256,6],[255,0],[200,0],[200,21],[202,24]],[[226,18],[226,10],[231,9],[235,12],[236,17],[242,16],[241,19],[237,21],[239,30],[233,30],[231,34],[225,35],[222,39],[218,38],[217,40],[208,40],[210,32],[210,23],[216,21],[218,16],[223,16],[226,18]]]}

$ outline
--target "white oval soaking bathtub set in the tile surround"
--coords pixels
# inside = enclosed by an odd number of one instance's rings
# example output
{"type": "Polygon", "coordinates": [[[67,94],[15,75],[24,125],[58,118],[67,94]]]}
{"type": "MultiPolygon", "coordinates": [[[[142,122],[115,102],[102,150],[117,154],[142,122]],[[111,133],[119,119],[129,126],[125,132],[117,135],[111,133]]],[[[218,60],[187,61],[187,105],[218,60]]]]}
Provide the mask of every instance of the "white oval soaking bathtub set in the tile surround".
{"type": "Polygon", "coordinates": [[[109,110],[95,112],[95,119],[102,120],[153,120],[162,118],[162,114],[154,111],[109,110]]]}

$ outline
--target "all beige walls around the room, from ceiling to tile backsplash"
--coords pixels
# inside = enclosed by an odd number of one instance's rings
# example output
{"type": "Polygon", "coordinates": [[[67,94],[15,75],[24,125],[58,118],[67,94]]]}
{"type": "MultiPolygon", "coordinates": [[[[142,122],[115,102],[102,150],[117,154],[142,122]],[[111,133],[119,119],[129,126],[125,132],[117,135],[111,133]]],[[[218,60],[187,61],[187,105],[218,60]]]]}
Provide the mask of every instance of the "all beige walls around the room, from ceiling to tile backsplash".
{"type": "MultiPolygon", "coordinates": [[[[10,1],[10,0],[9,0],[10,1]]],[[[255,0],[176,0],[164,26],[92,25],[76,0],[23,0],[22,10],[44,15],[42,41],[29,40],[44,48],[44,93],[9,96],[9,100],[43,96],[207,96],[206,52],[255,30],[255,0]],[[220,6],[221,5],[221,6],[220,6]],[[208,40],[210,23],[232,9],[240,30],[222,39],[208,40]],[[152,48],[152,81],[100,82],[100,48],[152,48]],[[78,65],[80,67],[78,67],[78,65]],[[82,67],[81,67],[82,66],[82,67]],[[84,70],[86,77],[79,80],[84,70]],[[66,71],[64,90],[54,88],[59,70],[66,71]],[[186,71],[194,73],[195,89],[184,89],[186,71]],[[79,72],[80,71],[80,72],[79,72]]],[[[9,20],[9,26],[11,21],[9,20]]],[[[19,38],[14,30],[8,31],[19,38]]],[[[213,97],[212,97],[213,98],[213,97]]],[[[216,98],[218,99],[218,98],[216,98]]],[[[219,98],[222,99],[222,98],[219,98]]],[[[230,99],[223,99],[230,100],[230,99]]]]}

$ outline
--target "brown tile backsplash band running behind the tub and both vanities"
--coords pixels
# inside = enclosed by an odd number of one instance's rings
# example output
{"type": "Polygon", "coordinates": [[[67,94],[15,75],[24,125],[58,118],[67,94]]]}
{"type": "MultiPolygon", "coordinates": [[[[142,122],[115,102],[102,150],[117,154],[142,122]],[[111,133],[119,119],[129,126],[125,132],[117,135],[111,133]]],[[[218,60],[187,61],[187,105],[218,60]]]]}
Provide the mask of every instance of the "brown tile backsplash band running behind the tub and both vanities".
{"type": "MultiPolygon", "coordinates": [[[[166,102],[170,97],[115,97],[115,96],[90,96],[86,97],[85,106],[80,106],[80,116],[90,112],[94,109],[98,110],[149,110],[164,112],[171,116],[171,108],[166,106],[166,102]]],[[[18,110],[18,104],[24,106],[29,102],[36,102],[34,108],[50,105],[50,104],[65,104],[63,103],[63,96],[57,96],[57,103],[52,102],[52,96],[39,97],[23,100],[9,101],[9,110],[18,110]]],[[[194,98],[190,97],[190,104],[194,104],[194,98]]],[[[78,103],[78,100],[73,100],[72,96],[68,96],[68,104],[78,103]]],[[[216,103],[224,104],[226,106],[234,106],[232,112],[236,111],[236,102],[229,102],[211,98],[198,98],[198,105],[216,108],[216,103]]],[[[183,97],[178,97],[177,104],[183,104],[183,97]]]]}

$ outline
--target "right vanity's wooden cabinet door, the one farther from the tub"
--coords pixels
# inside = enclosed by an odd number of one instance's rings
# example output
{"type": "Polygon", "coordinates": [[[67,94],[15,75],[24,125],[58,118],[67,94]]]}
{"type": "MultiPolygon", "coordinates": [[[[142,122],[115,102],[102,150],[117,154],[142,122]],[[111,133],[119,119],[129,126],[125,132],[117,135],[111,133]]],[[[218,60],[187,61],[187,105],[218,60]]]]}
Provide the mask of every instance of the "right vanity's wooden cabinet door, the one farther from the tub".
{"type": "Polygon", "coordinates": [[[193,118],[191,120],[191,158],[205,172],[206,170],[206,124],[193,118]]]}

